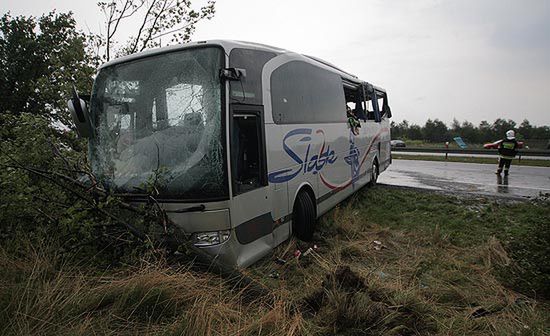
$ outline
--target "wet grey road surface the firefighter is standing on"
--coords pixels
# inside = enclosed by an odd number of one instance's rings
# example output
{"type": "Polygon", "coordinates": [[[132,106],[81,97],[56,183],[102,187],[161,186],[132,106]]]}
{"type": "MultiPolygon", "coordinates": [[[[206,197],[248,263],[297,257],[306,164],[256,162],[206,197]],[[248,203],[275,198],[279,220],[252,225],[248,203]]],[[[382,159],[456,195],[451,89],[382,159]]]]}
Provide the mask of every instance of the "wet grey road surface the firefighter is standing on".
{"type": "Polygon", "coordinates": [[[514,166],[508,178],[495,174],[495,164],[393,160],[378,182],[450,192],[537,197],[550,193],[550,168],[514,166]]]}

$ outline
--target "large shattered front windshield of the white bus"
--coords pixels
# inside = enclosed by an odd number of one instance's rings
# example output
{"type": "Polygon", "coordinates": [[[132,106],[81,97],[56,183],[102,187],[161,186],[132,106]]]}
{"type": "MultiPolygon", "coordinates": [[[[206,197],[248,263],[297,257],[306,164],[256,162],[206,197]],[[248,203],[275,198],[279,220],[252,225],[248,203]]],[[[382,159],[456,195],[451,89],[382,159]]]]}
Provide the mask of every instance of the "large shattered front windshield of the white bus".
{"type": "Polygon", "coordinates": [[[200,48],[102,69],[91,99],[94,173],[116,192],[226,195],[222,61],[221,49],[200,48]]]}

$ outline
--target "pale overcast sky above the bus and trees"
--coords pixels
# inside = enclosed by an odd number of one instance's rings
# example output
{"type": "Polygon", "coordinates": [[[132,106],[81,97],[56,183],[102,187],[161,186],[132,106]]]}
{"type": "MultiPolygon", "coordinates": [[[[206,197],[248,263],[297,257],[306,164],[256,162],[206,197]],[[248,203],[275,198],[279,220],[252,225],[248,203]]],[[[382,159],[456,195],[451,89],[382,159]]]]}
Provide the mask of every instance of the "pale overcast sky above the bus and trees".
{"type": "MultiPolygon", "coordinates": [[[[95,3],[4,0],[0,11],[71,10],[83,30],[99,32],[95,3]]],[[[550,125],[547,0],[218,0],[193,40],[220,38],[323,58],[384,87],[396,121],[550,125]]]]}

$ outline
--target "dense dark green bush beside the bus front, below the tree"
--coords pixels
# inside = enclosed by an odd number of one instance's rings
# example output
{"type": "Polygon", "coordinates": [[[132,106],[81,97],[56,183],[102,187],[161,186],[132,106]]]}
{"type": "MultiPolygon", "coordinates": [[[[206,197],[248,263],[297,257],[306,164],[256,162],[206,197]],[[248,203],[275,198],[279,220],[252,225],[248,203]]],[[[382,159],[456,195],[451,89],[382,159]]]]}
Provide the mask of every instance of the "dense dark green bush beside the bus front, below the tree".
{"type": "Polygon", "coordinates": [[[22,239],[53,239],[65,254],[100,263],[148,248],[124,222],[146,233],[154,213],[142,216],[147,212],[130,211],[116,197],[78,183],[87,172],[83,140],[29,113],[0,115],[0,125],[1,247],[16,252],[22,239]]]}

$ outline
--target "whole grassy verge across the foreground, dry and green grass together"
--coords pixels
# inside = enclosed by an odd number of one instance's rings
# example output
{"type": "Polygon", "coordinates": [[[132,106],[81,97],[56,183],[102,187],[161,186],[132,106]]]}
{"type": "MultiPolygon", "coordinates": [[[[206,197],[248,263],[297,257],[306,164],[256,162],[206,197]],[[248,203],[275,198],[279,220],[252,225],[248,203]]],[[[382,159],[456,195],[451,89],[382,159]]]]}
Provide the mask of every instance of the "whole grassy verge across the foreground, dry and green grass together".
{"type": "Polygon", "coordinates": [[[244,270],[271,293],[252,302],[162,253],[100,270],[21,244],[0,252],[0,334],[544,335],[548,206],[366,189],[244,270]]]}

